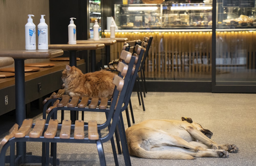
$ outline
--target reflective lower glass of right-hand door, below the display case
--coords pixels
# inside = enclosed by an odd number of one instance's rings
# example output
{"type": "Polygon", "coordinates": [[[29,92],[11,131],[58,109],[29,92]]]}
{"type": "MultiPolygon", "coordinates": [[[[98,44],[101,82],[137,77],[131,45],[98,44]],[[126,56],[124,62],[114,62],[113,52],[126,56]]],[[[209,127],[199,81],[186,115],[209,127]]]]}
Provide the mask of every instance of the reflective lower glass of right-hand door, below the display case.
{"type": "Polygon", "coordinates": [[[216,33],[216,84],[256,85],[256,31],[216,33]]]}

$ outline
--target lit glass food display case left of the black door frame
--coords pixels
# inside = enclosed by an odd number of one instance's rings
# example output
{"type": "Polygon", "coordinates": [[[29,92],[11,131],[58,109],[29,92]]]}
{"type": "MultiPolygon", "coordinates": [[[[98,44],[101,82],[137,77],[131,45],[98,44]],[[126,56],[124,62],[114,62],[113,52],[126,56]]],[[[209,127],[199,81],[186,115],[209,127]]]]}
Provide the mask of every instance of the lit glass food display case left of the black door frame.
{"type": "Polygon", "coordinates": [[[211,28],[212,4],[115,4],[119,29],[211,28]]]}

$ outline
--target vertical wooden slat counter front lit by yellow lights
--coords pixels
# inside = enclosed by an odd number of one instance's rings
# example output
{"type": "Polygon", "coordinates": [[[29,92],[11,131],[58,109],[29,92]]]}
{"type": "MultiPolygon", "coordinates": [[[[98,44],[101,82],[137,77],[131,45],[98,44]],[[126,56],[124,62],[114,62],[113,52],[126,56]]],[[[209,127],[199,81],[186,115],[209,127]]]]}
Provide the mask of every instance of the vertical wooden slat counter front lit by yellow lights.
{"type": "MultiPolygon", "coordinates": [[[[116,32],[129,41],[153,36],[145,62],[147,78],[211,78],[211,32],[116,32]]],[[[105,37],[110,33],[105,32],[105,37]]],[[[247,57],[246,67],[255,69],[256,32],[217,32],[216,58],[247,57]],[[248,55],[247,55],[248,54],[248,55]]],[[[111,46],[111,60],[119,58],[123,43],[111,46]]],[[[234,59],[235,58],[235,59],[234,59]]],[[[231,61],[231,62],[232,62],[231,61]]],[[[232,64],[232,63],[231,63],[232,64]]],[[[226,65],[227,66],[227,65],[226,65]]]]}

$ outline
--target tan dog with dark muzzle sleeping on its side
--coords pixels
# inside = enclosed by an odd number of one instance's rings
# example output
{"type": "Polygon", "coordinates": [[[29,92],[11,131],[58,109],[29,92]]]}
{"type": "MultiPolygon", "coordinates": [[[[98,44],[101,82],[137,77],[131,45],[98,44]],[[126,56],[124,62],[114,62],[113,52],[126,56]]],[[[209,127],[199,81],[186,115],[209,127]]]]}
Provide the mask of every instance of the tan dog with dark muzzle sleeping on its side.
{"type": "Polygon", "coordinates": [[[126,131],[131,156],[147,159],[194,159],[194,157],[229,157],[237,153],[233,144],[219,145],[191,118],[179,120],[146,120],[126,131]]]}

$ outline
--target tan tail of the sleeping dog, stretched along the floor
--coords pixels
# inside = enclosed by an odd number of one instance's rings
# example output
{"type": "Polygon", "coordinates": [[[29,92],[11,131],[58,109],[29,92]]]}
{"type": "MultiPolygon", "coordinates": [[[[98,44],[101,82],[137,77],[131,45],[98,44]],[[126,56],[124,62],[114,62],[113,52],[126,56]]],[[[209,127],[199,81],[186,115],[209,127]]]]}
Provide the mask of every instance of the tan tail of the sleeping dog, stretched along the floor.
{"type": "Polygon", "coordinates": [[[130,155],[137,156],[147,159],[178,159],[178,160],[191,160],[194,157],[190,154],[186,154],[181,151],[169,151],[169,150],[156,150],[156,151],[147,151],[140,147],[136,147],[136,150],[130,150],[130,155]]]}

